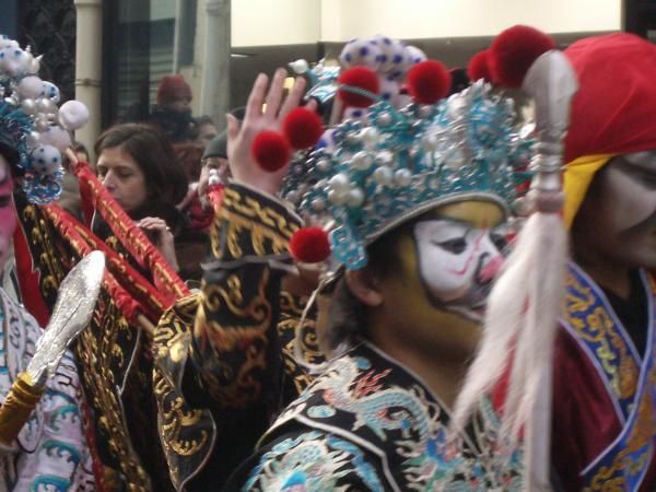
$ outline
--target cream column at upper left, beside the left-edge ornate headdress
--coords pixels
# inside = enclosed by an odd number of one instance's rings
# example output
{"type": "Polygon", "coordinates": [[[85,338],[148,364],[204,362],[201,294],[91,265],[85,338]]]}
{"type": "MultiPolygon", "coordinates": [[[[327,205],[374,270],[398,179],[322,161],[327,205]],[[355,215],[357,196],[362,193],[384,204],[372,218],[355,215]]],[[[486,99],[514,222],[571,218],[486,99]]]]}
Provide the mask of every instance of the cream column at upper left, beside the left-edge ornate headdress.
{"type": "MultiPolygon", "coordinates": [[[[90,152],[101,133],[101,84],[103,81],[103,0],[74,0],[77,12],[75,98],[89,107],[89,122],[75,140],[90,152]]],[[[92,157],[93,159],[93,157],[92,157]]]]}

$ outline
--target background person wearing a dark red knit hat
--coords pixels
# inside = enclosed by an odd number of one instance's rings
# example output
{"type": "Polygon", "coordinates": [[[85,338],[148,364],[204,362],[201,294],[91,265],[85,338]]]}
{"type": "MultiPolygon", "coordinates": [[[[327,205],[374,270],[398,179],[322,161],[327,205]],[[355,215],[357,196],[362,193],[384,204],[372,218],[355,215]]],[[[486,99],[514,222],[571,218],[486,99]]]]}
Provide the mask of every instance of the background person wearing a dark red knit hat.
{"type": "Polygon", "coordinates": [[[160,127],[171,143],[192,141],[197,125],[191,117],[191,87],[183,75],[163,77],[157,86],[157,104],[153,106],[149,122],[160,127]]]}

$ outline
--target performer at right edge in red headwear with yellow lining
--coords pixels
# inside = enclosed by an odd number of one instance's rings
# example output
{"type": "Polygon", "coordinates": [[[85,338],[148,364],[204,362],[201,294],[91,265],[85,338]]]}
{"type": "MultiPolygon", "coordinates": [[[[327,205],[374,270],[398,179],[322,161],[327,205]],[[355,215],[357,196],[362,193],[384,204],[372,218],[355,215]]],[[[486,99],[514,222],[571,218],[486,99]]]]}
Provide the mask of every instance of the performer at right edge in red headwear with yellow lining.
{"type": "Polygon", "coordinates": [[[565,54],[581,89],[566,140],[574,262],[555,353],[553,460],[566,490],[652,491],[656,47],[613,34],[565,54]]]}

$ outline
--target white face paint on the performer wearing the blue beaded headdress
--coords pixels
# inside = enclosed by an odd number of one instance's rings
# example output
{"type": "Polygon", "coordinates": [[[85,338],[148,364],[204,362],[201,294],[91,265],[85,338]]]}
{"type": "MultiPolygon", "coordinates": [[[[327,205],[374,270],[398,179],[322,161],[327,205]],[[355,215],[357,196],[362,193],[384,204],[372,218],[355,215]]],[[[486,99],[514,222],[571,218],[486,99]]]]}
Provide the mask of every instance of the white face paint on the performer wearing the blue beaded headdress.
{"type": "Polygon", "coordinates": [[[450,219],[414,225],[419,274],[431,302],[480,319],[490,284],[503,263],[505,233],[450,219]]]}

